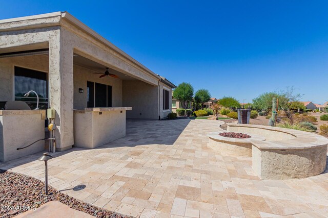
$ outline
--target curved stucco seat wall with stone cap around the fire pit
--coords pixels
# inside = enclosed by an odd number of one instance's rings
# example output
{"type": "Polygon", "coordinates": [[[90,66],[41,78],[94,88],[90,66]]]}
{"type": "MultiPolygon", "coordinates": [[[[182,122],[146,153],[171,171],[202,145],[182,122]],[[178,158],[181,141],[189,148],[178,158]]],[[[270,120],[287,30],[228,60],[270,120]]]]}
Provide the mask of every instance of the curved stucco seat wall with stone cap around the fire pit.
{"type": "MultiPolygon", "coordinates": [[[[326,168],[328,139],[323,136],[299,130],[247,124],[228,124],[228,131],[265,137],[265,140],[249,140],[252,144],[252,166],[261,179],[306,178],[321,174],[326,168]]],[[[211,138],[211,134],[209,137],[211,147],[215,139],[211,138]]],[[[226,150],[237,150],[234,147],[226,150]]],[[[239,152],[239,155],[250,156],[250,147],[247,148],[247,151],[239,152]]],[[[228,154],[225,151],[221,153],[228,154]]]]}

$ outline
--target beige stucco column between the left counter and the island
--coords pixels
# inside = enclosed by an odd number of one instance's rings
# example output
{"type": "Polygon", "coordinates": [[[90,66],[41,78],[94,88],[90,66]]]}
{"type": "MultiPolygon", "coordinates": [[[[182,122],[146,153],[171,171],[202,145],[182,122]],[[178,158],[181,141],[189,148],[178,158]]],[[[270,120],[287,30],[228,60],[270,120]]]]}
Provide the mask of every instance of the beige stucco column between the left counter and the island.
{"type": "Polygon", "coordinates": [[[73,45],[60,31],[49,39],[49,106],[56,110],[57,151],[74,144],[73,93],[73,45]]]}

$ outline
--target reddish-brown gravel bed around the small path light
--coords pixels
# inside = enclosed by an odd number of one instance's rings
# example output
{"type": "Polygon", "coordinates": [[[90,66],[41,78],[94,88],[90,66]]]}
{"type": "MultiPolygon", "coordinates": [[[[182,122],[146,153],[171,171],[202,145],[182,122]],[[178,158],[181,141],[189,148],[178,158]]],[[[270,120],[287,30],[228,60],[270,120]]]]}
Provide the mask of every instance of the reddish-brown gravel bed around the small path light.
{"type": "Polygon", "coordinates": [[[97,208],[93,205],[80,202],[64,193],[59,193],[53,187],[49,186],[49,193],[52,195],[44,197],[45,183],[33,177],[22,174],[11,173],[0,169],[0,205],[2,207],[10,206],[13,210],[0,210],[0,217],[13,217],[24,210],[15,210],[18,206],[34,206],[38,208],[40,205],[49,201],[59,201],[68,205],[70,208],[83,211],[96,217],[123,218],[130,217],[97,208]]]}

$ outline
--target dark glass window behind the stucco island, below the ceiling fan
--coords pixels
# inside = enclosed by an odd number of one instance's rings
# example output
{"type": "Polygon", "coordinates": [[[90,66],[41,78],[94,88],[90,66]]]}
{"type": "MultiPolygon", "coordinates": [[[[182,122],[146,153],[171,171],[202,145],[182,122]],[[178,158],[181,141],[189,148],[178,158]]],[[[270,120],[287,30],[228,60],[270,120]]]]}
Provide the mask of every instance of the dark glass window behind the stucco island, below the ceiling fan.
{"type": "Polygon", "coordinates": [[[88,108],[112,107],[112,86],[88,81],[87,105],[88,108]]]}

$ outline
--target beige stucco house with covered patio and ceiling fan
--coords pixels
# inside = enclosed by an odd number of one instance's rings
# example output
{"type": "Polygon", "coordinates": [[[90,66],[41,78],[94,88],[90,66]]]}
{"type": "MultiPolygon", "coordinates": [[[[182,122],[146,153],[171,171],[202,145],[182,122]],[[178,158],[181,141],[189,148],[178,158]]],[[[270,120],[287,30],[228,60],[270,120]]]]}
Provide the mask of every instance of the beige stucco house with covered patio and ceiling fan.
{"type": "Polygon", "coordinates": [[[48,108],[57,151],[95,148],[125,136],[126,118],[167,117],[172,88],[68,12],[0,20],[0,109],[10,101],[35,109],[30,90],[40,109],[0,110],[0,161],[9,147],[44,138],[48,108]]]}

